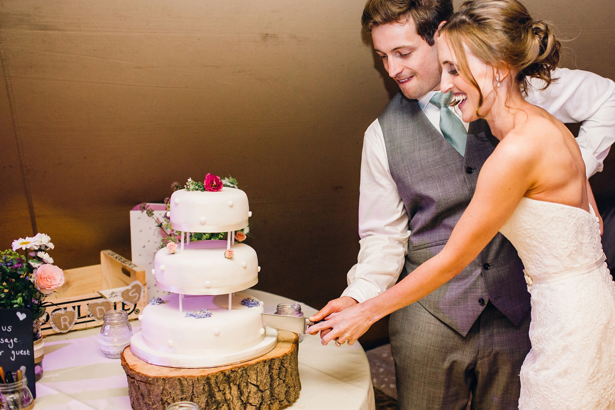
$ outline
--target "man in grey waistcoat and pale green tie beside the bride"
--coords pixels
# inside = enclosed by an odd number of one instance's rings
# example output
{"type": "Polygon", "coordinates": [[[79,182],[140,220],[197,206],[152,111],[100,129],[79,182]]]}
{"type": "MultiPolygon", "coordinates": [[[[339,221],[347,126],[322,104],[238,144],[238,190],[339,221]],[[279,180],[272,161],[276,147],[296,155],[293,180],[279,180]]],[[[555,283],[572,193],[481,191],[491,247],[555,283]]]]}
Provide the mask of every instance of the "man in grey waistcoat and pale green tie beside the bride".
{"type": "MultiPolygon", "coordinates": [[[[411,275],[442,250],[474,194],[496,140],[484,120],[451,125],[450,117],[440,117],[446,101],[438,92],[434,34],[452,12],[451,0],[368,0],[365,6],[363,28],[400,93],[365,133],[362,239],[349,286],[311,320],[373,298],[411,275]]],[[[554,77],[555,84],[531,91],[528,100],[563,122],[589,119],[577,142],[592,175],[615,138],[608,123],[615,116],[615,83],[566,69],[554,77]]],[[[464,409],[470,393],[473,408],[517,409],[518,373],[530,349],[530,296],[522,270],[517,251],[498,234],[461,274],[392,313],[400,409],[464,409]]]]}

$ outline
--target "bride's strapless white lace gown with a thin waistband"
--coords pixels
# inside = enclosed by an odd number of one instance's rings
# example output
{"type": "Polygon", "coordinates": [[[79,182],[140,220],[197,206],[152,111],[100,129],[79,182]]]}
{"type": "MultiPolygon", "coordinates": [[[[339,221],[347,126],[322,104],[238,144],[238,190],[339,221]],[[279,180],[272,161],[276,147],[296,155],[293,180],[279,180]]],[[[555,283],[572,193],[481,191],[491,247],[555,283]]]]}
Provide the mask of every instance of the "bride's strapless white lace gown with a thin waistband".
{"type": "Polygon", "coordinates": [[[524,197],[501,232],[531,294],[519,409],[615,409],[615,283],[593,210],[524,197]]]}

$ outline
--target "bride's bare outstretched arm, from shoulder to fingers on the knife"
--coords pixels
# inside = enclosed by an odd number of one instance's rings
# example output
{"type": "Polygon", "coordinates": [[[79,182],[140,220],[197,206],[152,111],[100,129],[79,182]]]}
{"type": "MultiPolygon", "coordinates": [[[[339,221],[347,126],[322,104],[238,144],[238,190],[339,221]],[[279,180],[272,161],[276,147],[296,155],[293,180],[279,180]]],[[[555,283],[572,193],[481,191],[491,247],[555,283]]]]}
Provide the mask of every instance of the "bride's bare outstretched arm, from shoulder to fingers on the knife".
{"type": "Polygon", "coordinates": [[[333,339],[354,343],[375,321],[418,301],[459,274],[498,233],[534,184],[535,160],[527,144],[502,141],[483,165],[474,197],[454,227],[451,237],[433,258],[421,264],[374,298],[332,313],[309,333],[331,328],[322,344],[333,339]]]}

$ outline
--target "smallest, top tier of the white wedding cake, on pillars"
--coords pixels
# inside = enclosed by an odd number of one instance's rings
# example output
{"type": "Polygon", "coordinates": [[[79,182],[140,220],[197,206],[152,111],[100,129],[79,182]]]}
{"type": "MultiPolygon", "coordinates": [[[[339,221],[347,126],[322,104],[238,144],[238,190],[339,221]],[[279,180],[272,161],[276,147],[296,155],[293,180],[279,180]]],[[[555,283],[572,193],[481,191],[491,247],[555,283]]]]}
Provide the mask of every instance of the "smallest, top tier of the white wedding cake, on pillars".
{"type": "Polygon", "coordinates": [[[170,219],[175,231],[230,232],[248,226],[248,196],[236,188],[186,191],[171,195],[170,219]]]}

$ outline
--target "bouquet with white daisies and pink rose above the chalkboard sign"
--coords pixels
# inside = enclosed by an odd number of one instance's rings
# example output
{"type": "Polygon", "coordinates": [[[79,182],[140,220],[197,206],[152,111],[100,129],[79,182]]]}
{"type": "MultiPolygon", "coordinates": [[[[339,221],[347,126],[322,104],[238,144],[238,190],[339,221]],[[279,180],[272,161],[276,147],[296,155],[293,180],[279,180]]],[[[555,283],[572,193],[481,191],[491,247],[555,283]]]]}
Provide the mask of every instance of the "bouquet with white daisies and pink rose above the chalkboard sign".
{"type": "Polygon", "coordinates": [[[49,235],[36,234],[0,252],[0,308],[30,309],[34,325],[38,323],[46,310],[45,298],[64,284],[64,272],[47,253],[53,248],[49,235]]]}

